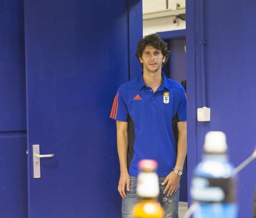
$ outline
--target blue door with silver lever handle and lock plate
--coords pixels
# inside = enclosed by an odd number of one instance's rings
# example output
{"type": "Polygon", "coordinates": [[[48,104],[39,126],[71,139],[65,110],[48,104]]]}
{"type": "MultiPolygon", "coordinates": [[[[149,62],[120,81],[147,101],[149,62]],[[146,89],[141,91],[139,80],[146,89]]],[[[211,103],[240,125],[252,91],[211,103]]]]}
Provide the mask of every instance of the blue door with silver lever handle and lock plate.
{"type": "Polygon", "coordinates": [[[131,7],[141,2],[24,1],[30,218],[121,216],[109,115],[129,78],[131,7]],[[34,163],[33,145],[55,156],[34,163]]]}

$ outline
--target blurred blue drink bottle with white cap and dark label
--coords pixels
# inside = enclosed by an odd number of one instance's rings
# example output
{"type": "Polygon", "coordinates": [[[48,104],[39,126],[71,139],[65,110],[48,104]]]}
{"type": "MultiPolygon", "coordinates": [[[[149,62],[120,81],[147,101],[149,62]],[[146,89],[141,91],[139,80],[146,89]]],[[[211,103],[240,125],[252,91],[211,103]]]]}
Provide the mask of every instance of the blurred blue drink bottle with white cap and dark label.
{"type": "Polygon", "coordinates": [[[192,179],[191,197],[197,203],[194,218],[236,218],[236,181],[229,163],[226,135],[211,131],[205,135],[204,154],[192,179]]]}

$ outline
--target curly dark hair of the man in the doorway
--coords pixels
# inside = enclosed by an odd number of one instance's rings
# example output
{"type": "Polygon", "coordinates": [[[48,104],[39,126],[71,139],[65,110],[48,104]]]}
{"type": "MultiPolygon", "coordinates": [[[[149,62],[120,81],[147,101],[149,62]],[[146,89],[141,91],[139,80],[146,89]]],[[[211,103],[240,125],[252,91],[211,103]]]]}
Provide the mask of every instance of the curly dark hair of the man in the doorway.
{"type": "MultiPolygon", "coordinates": [[[[136,51],[136,57],[138,61],[140,62],[140,58],[142,57],[142,52],[144,51],[145,47],[147,45],[151,45],[157,50],[160,50],[165,57],[165,61],[162,63],[162,66],[167,62],[169,58],[170,51],[168,50],[167,43],[164,42],[160,36],[158,36],[156,33],[152,33],[150,35],[144,36],[139,40],[137,51],[136,51]]],[[[143,69],[143,64],[140,63],[140,66],[143,69]]]]}

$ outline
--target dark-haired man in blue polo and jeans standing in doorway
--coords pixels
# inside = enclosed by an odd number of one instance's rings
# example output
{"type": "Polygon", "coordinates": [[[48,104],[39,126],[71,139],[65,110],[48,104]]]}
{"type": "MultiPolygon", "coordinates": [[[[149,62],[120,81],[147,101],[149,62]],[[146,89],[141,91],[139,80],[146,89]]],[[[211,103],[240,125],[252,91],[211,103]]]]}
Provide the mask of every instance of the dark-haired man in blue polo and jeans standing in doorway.
{"type": "Polygon", "coordinates": [[[117,125],[121,171],[118,192],[123,198],[122,215],[123,218],[131,217],[133,206],[138,201],[138,161],[155,159],[158,162],[160,203],[165,210],[165,218],[174,218],[178,217],[179,182],[187,151],[186,92],[181,84],[161,72],[169,51],[157,34],[139,41],[136,56],[143,72],[138,78],[120,86],[110,114],[117,125]],[[135,140],[134,153],[127,159],[129,116],[134,122],[135,140]],[[179,131],[177,152],[173,120],[176,120],[179,131]]]}

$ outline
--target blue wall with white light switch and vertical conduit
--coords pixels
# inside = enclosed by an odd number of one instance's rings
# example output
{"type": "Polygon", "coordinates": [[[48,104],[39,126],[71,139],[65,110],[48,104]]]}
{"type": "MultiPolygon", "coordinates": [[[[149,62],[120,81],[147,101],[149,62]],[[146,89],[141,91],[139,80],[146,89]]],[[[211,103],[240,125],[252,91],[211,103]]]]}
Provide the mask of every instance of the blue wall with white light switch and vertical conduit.
{"type": "MultiPolygon", "coordinates": [[[[255,13],[254,0],[246,3],[241,0],[235,3],[232,0],[186,1],[189,184],[192,170],[201,159],[206,132],[226,133],[229,157],[235,166],[254,150],[255,13]],[[202,45],[202,41],[206,44],[202,45]],[[202,69],[205,69],[205,90],[202,69]],[[205,104],[211,108],[210,122],[196,121],[196,108],[203,106],[203,92],[205,104]]],[[[252,217],[255,168],[256,161],[238,175],[241,218],[252,217]]]]}

